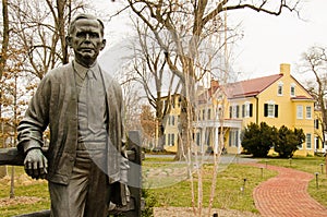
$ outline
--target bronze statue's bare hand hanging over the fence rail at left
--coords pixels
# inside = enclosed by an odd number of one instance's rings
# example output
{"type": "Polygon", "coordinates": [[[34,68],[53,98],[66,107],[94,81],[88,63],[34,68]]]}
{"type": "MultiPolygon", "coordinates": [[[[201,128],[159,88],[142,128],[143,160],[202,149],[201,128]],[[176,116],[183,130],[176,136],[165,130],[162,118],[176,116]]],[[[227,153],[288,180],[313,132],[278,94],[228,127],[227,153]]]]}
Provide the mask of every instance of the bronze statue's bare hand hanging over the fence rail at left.
{"type": "Polygon", "coordinates": [[[46,179],[48,160],[41,149],[33,148],[27,152],[24,160],[25,171],[33,179],[46,179]]]}

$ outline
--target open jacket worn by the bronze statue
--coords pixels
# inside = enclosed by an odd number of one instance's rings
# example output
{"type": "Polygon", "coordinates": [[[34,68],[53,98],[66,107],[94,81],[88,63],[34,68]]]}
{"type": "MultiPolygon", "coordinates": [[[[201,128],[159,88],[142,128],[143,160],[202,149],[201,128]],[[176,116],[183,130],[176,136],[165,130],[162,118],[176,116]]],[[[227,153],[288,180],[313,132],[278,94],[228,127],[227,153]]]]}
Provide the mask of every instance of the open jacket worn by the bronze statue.
{"type": "MultiPolygon", "coordinates": [[[[107,174],[109,183],[120,181],[121,152],[125,142],[123,99],[120,85],[100,70],[108,113],[107,174]]],[[[40,148],[43,133],[49,125],[48,177],[55,183],[68,184],[77,147],[77,89],[72,63],[49,71],[40,81],[25,117],[19,125],[21,152],[40,148]]]]}

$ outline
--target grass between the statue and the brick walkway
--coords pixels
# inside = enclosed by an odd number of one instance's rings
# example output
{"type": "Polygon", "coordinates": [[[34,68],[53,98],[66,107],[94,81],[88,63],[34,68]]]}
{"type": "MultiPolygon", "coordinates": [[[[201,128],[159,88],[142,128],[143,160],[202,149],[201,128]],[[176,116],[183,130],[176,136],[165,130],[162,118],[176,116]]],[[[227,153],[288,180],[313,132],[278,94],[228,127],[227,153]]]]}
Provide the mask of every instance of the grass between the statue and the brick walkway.
{"type": "MultiPolygon", "coordinates": [[[[157,158],[161,160],[161,158],[157,158]]],[[[152,165],[154,159],[147,161],[144,165],[152,165]]],[[[157,166],[156,166],[157,167],[157,166]]],[[[167,167],[167,161],[162,162],[162,168],[167,167]]],[[[252,192],[255,186],[257,186],[262,181],[267,180],[277,174],[277,172],[271,170],[266,170],[261,168],[253,168],[251,166],[231,164],[221,165],[227,169],[219,172],[217,180],[217,189],[215,194],[214,207],[225,208],[225,209],[239,209],[247,210],[252,213],[257,213],[254,206],[254,201],[252,197],[252,192]],[[244,188],[244,179],[245,188],[244,188]],[[244,191],[241,191],[241,189],[244,191]]],[[[203,205],[205,207],[209,204],[209,195],[213,180],[213,165],[205,165],[203,167],[203,205]]],[[[157,177],[157,181],[160,182],[162,177],[157,177]]],[[[194,185],[197,189],[197,178],[194,176],[194,185]]],[[[175,207],[191,207],[192,206],[192,195],[191,195],[191,181],[185,179],[173,185],[149,189],[148,192],[154,195],[157,201],[156,206],[175,206],[175,207]]],[[[197,192],[195,192],[197,195],[197,192]]],[[[195,198],[195,203],[197,198],[195,198]]]]}

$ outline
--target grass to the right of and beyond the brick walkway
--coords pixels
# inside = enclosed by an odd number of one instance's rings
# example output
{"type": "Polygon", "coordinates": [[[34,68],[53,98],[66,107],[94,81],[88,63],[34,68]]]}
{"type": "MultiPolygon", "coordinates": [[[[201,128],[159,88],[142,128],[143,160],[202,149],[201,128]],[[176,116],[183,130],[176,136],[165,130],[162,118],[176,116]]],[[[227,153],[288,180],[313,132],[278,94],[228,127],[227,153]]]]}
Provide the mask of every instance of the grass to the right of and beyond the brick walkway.
{"type": "Polygon", "coordinates": [[[292,159],[268,158],[262,159],[261,162],[292,168],[314,174],[314,179],[308,183],[307,192],[313,198],[327,207],[327,174],[324,157],[293,157],[292,159]],[[318,172],[318,188],[316,184],[316,172],[318,172]]]}

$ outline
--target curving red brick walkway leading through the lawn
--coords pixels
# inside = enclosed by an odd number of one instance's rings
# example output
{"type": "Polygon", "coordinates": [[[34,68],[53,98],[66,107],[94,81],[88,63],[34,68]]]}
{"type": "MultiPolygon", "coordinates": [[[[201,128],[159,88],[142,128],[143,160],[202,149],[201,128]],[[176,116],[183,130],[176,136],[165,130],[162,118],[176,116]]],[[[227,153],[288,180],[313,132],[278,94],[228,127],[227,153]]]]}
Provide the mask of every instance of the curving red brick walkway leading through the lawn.
{"type": "Polygon", "coordinates": [[[276,166],[268,166],[268,169],[279,174],[263,182],[253,192],[255,206],[263,217],[327,217],[327,207],[313,200],[306,191],[314,174],[276,166]]]}

